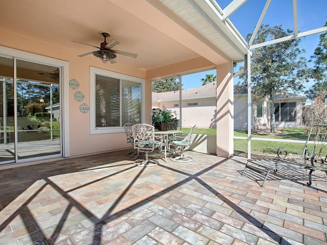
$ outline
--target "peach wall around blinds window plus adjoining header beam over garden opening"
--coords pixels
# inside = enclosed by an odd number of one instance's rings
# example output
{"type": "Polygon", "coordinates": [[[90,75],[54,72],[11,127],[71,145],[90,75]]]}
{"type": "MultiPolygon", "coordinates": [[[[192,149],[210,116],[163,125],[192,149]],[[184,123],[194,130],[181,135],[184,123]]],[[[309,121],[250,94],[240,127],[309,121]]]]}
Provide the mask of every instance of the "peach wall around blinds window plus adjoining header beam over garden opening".
{"type": "MultiPolygon", "coordinates": [[[[145,82],[145,122],[151,124],[151,81],[155,77],[169,77],[171,74],[179,72],[185,74],[186,71],[205,70],[212,68],[213,64],[203,58],[195,59],[188,62],[181,62],[171,66],[159,68],[157,70],[148,71],[125,66],[121,63],[104,64],[93,56],[78,57],[79,54],[72,50],[67,50],[60,46],[55,46],[46,42],[38,41],[34,38],[18,36],[16,34],[0,30],[0,46],[10,47],[37,55],[64,60],[69,63],[69,78],[62,84],[67,84],[69,80],[76,79],[80,87],[79,91],[83,92],[85,97],[83,103],[90,104],[90,66],[119,72],[129,76],[146,79],[145,82]],[[24,43],[24,45],[21,45],[24,43]],[[208,68],[207,68],[208,67],[208,68]]],[[[63,89],[64,86],[61,86],[63,89]]],[[[90,134],[90,113],[82,114],[79,111],[80,102],[74,100],[76,91],[67,89],[64,93],[68,100],[63,103],[69,107],[69,118],[63,118],[64,122],[69,122],[69,150],[71,156],[112,151],[131,147],[126,143],[125,133],[110,134],[90,134]]]]}

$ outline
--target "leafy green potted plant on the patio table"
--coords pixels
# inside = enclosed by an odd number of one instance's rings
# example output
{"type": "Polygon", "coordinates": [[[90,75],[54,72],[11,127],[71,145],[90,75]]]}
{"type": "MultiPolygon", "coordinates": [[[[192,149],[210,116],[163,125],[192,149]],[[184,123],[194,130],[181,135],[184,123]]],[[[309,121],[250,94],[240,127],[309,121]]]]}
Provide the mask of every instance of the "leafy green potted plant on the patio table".
{"type": "Polygon", "coordinates": [[[177,123],[177,118],[171,110],[153,108],[152,109],[152,125],[159,131],[167,130],[167,122],[172,121],[177,123]]]}

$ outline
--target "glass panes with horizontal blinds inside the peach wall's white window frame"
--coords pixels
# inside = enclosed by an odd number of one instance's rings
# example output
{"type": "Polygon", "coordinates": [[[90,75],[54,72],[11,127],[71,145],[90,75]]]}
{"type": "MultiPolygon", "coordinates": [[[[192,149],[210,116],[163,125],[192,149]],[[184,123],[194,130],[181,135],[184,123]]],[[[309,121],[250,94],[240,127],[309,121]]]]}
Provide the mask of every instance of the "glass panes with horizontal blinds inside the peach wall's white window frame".
{"type": "Polygon", "coordinates": [[[95,127],[123,127],[142,121],[142,85],[96,74],[95,127]]]}

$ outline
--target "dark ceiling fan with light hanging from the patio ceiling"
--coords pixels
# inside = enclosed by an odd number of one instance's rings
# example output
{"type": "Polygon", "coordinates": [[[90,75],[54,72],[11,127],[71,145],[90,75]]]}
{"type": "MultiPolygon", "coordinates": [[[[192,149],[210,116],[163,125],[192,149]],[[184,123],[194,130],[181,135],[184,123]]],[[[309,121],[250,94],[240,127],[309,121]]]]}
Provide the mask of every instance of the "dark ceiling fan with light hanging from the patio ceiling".
{"type": "Polygon", "coordinates": [[[84,43],[84,42],[72,41],[72,42],[88,45],[88,46],[91,46],[91,47],[100,48],[100,50],[98,50],[98,51],[88,52],[88,53],[79,55],[79,57],[84,57],[86,55],[92,54],[95,57],[100,58],[103,63],[107,63],[109,61],[111,64],[117,63],[117,61],[115,60],[115,58],[117,56],[115,54],[126,55],[126,56],[132,57],[132,58],[137,57],[137,54],[133,54],[133,53],[125,52],[125,51],[120,51],[120,50],[111,50],[111,48],[113,46],[119,44],[119,42],[114,40],[114,39],[111,39],[110,42],[106,42],[106,38],[110,36],[110,34],[108,32],[106,32],[106,31],[100,31],[99,34],[104,37],[104,41],[100,44],[100,47],[97,47],[97,46],[92,45],[92,44],[84,43]]]}

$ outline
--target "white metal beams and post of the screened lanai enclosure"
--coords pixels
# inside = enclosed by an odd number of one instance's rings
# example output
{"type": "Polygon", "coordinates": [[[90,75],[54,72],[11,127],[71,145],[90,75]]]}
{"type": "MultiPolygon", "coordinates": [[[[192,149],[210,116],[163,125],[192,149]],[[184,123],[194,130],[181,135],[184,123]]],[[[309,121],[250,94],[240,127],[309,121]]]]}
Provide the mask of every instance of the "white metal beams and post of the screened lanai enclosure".
{"type": "MultiPolygon", "coordinates": [[[[231,16],[235,11],[237,11],[240,7],[242,7],[242,5],[245,4],[247,0],[233,0],[226,8],[224,8],[223,10],[221,9],[221,18],[222,20],[228,20],[228,17],[231,16]]],[[[255,29],[253,31],[253,34],[250,38],[250,41],[247,43],[248,45],[248,53],[245,55],[244,57],[244,68],[241,71],[237,71],[234,74],[234,77],[239,76],[240,74],[247,72],[247,79],[248,79],[248,87],[247,87],[247,132],[248,132],[248,137],[237,137],[238,139],[247,139],[247,158],[251,158],[251,140],[268,140],[265,138],[251,138],[251,128],[252,128],[252,100],[251,100],[251,51],[254,50],[255,48],[258,47],[263,47],[263,46],[267,46],[270,44],[275,44],[275,43],[279,43],[279,42],[284,42],[284,41],[288,41],[288,40],[292,40],[292,39],[296,39],[296,38],[301,38],[301,37],[305,37],[308,35],[313,35],[313,34],[318,34],[321,32],[325,32],[327,31],[327,27],[321,27],[318,29],[313,29],[310,31],[306,31],[306,32],[302,32],[299,33],[298,32],[298,25],[297,25],[297,0],[293,0],[293,21],[294,21],[294,34],[287,36],[287,37],[283,37],[283,38],[278,38],[278,39],[274,39],[274,40],[269,40],[263,43],[258,43],[258,44],[253,44],[253,40],[256,36],[256,34],[258,33],[258,30],[261,26],[261,23],[265,17],[265,14],[269,8],[269,5],[271,3],[272,0],[267,0],[264,9],[260,15],[260,18],[258,20],[258,22],[256,23],[255,29]]],[[[229,20],[228,20],[229,21],[229,20]]],[[[242,61],[237,61],[237,62],[242,62],[242,61]]],[[[298,142],[298,143],[303,143],[302,140],[273,140],[273,139],[269,139],[269,141],[280,141],[280,142],[298,142]]],[[[277,149],[276,149],[277,150],[277,149]]]]}

